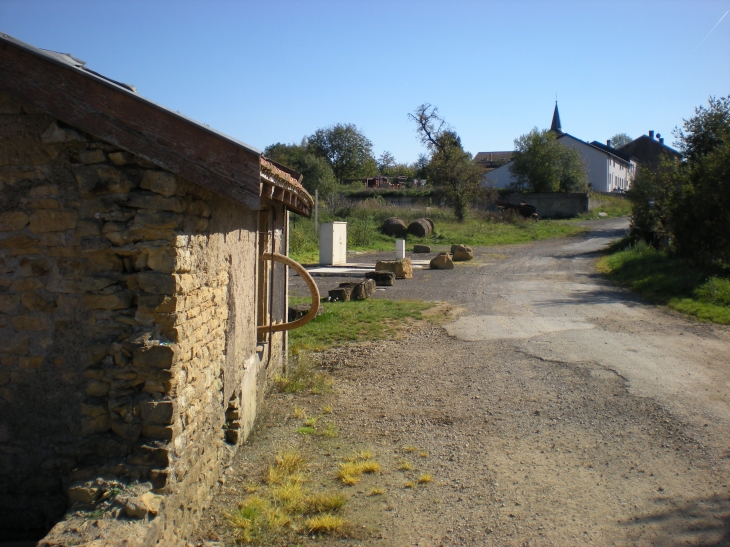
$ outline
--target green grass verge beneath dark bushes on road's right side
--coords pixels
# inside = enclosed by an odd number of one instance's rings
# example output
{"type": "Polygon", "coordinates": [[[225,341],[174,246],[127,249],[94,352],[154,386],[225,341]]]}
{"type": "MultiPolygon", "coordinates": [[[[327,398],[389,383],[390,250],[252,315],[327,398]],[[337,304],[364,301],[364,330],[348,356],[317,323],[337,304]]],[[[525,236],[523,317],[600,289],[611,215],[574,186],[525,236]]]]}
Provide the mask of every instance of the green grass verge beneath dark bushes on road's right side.
{"type": "Polygon", "coordinates": [[[701,321],[730,325],[730,279],[711,275],[643,242],[611,246],[597,267],[644,298],[701,321]]]}

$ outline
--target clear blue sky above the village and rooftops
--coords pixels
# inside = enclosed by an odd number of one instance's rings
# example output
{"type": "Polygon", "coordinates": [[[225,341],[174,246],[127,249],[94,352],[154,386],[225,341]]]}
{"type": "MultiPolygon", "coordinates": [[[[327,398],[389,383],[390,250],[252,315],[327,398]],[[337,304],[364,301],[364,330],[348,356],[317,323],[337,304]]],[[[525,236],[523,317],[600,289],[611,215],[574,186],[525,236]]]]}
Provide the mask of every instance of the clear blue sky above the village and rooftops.
{"type": "Polygon", "coordinates": [[[548,127],[584,140],[672,129],[730,94],[730,0],[0,0],[0,31],[71,53],[252,146],[354,123],[414,161],[440,109],[465,149],[548,127]],[[706,39],[705,39],[706,38],[706,39]],[[704,42],[702,41],[703,39],[704,42]]]}

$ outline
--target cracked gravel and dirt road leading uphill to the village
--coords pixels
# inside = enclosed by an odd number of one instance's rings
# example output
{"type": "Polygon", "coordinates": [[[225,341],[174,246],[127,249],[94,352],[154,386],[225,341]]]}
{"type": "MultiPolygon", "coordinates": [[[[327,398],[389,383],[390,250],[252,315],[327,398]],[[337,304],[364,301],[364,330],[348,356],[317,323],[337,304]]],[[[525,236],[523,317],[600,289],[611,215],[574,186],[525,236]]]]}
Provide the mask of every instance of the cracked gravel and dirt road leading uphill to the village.
{"type": "Polygon", "coordinates": [[[462,313],[445,329],[326,353],[335,394],[273,395],[200,537],[229,539],[220,514],[240,485],[298,444],[326,487],[355,447],[384,467],[347,489],[355,539],[303,543],[730,545],[730,330],[602,280],[596,251],[625,221],[592,226],[478,249],[378,292],[462,313]],[[340,436],[296,438],[293,406],[311,415],[326,403],[340,436]],[[398,470],[403,459],[412,471],[398,470]],[[404,488],[423,473],[431,483],[404,488]]]}

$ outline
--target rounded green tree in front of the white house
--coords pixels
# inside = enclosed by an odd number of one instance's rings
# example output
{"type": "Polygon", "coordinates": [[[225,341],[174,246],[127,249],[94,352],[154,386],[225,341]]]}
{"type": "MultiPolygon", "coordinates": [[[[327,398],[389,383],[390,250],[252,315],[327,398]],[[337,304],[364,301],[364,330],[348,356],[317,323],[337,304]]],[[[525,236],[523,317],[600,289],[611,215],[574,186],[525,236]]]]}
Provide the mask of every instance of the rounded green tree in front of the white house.
{"type": "Polygon", "coordinates": [[[510,171],[515,190],[528,192],[585,192],[586,166],[577,150],[563,146],[553,131],[537,127],[515,139],[510,171]]]}

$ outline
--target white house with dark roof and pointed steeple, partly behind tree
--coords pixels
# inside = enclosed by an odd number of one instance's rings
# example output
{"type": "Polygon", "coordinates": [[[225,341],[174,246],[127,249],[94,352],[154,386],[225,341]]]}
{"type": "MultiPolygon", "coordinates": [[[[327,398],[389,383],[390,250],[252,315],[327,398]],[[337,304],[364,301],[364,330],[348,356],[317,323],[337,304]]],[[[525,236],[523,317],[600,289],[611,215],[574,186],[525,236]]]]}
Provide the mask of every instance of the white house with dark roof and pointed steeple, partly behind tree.
{"type": "MultiPolygon", "coordinates": [[[[561,144],[578,151],[586,164],[591,189],[596,192],[625,192],[629,189],[636,174],[636,158],[612,148],[608,143],[589,143],[565,133],[560,126],[557,102],[550,130],[557,134],[561,144]]],[[[485,173],[482,184],[493,188],[507,188],[517,181],[517,177],[510,171],[511,165],[512,162],[485,173]]]]}

